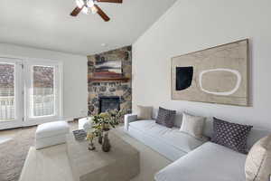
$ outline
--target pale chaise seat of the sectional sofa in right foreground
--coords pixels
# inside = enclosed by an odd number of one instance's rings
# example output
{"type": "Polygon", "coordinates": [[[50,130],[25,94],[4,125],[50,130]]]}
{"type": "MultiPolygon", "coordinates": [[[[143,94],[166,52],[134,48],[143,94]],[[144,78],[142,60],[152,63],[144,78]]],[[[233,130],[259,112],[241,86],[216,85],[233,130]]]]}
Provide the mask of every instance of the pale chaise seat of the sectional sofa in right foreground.
{"type": "Polygon", "coordinates": [[[207,142],[164,167],[156,181],[245,181],[246,155],[207,142]]]}

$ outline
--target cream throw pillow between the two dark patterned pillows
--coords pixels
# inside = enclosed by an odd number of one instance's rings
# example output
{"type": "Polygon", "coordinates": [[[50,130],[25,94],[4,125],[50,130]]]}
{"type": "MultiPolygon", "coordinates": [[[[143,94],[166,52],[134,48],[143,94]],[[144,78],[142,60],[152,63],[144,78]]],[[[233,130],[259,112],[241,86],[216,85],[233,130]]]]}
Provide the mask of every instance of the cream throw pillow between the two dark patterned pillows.
{"type": "Polygon", "coordinates": [[[205,118],[203,117],[182,113],[182,126],[180,131],[185,132],[195,138],[203,138],[202,132],[204,123],[205,118]]]}

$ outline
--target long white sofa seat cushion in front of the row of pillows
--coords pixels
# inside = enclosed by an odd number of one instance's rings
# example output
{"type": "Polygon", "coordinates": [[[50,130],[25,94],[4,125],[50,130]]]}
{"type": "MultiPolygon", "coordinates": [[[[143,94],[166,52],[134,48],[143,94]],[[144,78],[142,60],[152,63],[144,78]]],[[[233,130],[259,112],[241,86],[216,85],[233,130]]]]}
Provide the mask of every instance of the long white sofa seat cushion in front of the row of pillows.
{"type": "Polygon", "coordinates": [[[148,136],[163,141],[170,147],[178,148],[183,152],[190,152],[192,149],[201,146],[203,140],[194,138],[182,133],[178,128],[169,129],[155,123],[155,120],[139,120],[130,123],[130,127],[141,130],[148,136]]]}

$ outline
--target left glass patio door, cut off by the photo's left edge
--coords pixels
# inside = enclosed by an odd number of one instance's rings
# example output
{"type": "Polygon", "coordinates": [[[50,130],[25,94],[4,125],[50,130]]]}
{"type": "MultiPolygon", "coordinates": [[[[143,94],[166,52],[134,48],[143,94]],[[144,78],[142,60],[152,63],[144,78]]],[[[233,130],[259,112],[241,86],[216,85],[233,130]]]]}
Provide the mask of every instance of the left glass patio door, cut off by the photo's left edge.
{"type": "Polygon", "coordinates": [[[5,129],[23,125],[22,70],[21,60],[0,58],[0,126],[5,129]]]}

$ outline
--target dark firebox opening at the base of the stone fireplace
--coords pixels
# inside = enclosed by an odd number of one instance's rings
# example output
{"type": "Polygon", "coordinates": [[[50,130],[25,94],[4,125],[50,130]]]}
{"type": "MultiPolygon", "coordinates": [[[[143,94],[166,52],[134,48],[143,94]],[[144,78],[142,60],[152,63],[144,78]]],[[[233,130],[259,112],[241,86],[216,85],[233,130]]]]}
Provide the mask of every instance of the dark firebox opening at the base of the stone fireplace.
{"type": "Polygon", "coordinates": [[[98,100],[98,113],[106,112],[107,110],[120,110],[120,100],[117,96],[102,96],[98,100]]]}

